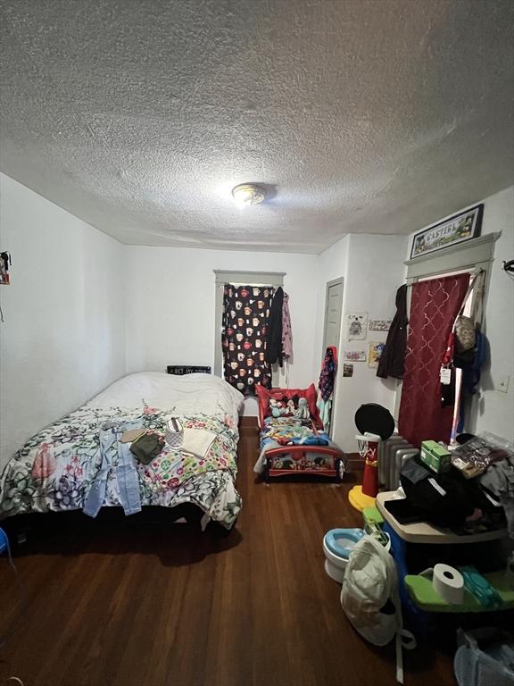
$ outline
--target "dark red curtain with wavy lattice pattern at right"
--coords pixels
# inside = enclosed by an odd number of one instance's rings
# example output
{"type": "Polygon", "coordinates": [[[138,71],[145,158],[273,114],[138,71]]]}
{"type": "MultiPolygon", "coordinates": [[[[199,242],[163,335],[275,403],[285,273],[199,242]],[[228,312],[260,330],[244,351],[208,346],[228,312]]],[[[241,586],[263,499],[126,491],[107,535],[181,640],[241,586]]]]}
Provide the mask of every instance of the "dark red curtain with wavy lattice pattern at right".
{"type": "Polygon", "coordinates": [[[416,448],[422,440],[449,442],[452,434],[453,406],[442,406],[440,371],[468,283],[466,273],[412,285],[398,430],[416,448]]]}

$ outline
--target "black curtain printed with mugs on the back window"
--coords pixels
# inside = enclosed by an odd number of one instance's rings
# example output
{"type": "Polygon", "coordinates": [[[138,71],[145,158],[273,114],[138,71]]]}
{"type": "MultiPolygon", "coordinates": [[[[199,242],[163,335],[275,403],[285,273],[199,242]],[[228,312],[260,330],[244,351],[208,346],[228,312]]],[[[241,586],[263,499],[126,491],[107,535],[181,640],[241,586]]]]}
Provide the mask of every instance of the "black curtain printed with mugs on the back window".
{"type": "Polygon", "coordinates": [[[223,290],[221,347],[225,380],[245,396],[255,395],[255,384],[271,388],[271,368],[265,360],[269,286],[234,286],[223,290]]]}

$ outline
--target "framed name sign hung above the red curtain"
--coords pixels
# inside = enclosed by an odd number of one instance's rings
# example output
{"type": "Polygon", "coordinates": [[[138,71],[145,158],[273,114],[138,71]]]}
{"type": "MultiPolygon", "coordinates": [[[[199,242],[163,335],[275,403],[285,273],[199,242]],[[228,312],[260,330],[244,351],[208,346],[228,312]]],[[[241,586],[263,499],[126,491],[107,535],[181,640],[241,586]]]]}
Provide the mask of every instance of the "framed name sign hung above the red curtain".
{"type": "Polygon", "coordinates": [[[484,205],[475,205],[466,212],[455,214],[417,233],[412,240],[410,259],[433,253],[443,247],[454,246],[480,236],[484,205]]]}

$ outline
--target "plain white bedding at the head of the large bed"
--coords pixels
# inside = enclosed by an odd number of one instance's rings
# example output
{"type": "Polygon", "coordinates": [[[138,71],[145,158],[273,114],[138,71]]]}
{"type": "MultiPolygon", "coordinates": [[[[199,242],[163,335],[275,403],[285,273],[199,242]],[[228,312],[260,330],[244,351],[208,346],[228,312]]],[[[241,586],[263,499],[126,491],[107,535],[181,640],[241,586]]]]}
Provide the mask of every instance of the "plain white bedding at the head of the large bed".
{"type": "Polygon", "coordinates": [[[138,372],[114,381],[87,406],[137,408],[144,402],[175,414],[209,414],[221,420],[228,414],[237,424],[244,397],[227,381],[211,374],[138,372]]]}

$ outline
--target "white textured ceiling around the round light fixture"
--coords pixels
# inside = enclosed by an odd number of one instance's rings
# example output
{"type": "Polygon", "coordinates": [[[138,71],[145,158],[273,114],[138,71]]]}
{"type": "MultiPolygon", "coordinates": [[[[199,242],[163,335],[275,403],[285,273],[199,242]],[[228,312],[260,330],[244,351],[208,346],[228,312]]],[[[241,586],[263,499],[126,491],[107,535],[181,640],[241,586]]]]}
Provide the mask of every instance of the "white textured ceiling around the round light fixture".
{"type": "Polygon", "coordinates": [[[510,0],[0,8],[2,170],[124,243],[317,253],[513,182],[510,0]]]}

